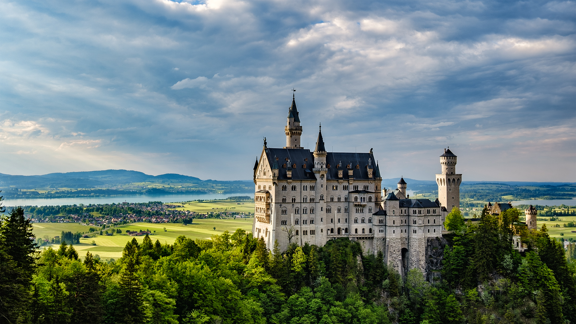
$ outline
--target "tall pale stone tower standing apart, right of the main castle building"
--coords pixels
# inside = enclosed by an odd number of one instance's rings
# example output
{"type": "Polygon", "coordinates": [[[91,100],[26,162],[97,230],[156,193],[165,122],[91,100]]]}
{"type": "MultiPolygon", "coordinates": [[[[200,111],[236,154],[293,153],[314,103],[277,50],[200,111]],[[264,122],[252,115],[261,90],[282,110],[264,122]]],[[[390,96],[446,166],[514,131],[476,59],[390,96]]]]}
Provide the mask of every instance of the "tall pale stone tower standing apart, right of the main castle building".
{"type": "Polygon", "coordinates": [[[462,175],[456,174],[456,155],[450,149],[444,149],[444,154],[440,156],[442,172],[436,175],[438,184],[438,200],[442,207],[448,212],[453,207],[460,208],[460,183],[462,175]]]}

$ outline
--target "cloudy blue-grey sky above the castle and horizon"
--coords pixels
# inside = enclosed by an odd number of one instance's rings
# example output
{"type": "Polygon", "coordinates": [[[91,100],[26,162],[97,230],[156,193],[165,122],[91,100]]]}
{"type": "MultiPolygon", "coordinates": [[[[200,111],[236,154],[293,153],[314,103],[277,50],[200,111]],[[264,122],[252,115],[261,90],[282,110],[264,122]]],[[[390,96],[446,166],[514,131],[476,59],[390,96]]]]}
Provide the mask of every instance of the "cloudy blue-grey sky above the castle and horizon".
{"type": "Polygon", "coordinates": [[[576,182],[576,3],[0,1],[3,174],[249,180],[286,145],[382,178],[576,182]]]}

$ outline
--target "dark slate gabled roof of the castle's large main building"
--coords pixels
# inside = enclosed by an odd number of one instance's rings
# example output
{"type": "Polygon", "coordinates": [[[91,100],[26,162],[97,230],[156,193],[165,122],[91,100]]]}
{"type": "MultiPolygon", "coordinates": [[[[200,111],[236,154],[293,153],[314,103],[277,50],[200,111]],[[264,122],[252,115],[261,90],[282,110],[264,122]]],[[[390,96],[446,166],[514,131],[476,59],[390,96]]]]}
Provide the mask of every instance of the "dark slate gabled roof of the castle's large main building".
{"type": "MultiPolygon", "coordinates": [[[[268,160],[275,160],[275,157],[278,157],[278,179],[316,179],[316,176],[310,171],[314,167],[314,155],[308,149],[266,148],[266,155],[268,160]],[[296,164],[296,168],[292,169],[292,178],[287,178],[286,168],[283,167],[283,165],[288,162],[286,158],[290,159],[291,164],[296,164]],[[308,161],[304,159],[308,159],[308,161]],[[304,168],[303,165],[306,165],[306,168],[304,168]]],[[[326,163],[330,165],[330,168],[328,168],[327,179],[350,179],[348,178],[348,170],[346,169],[346,165],[348,164],[352,164],[354,179],[374,179],[376,176],[374,174],[372,175],[373,178],[368,178],[367,165],[369,159],[374,161],[374,155],[370,153],[328,152],[326,163]],[[343,170],[342,178],[338,178],[338,168],[336,168],[336,165],[340,164],[340,161],[342,161],[342,165],[340,165],[340,169],[343,170]],[[356,165],[359,165],[358,169],[356,165]]]]}

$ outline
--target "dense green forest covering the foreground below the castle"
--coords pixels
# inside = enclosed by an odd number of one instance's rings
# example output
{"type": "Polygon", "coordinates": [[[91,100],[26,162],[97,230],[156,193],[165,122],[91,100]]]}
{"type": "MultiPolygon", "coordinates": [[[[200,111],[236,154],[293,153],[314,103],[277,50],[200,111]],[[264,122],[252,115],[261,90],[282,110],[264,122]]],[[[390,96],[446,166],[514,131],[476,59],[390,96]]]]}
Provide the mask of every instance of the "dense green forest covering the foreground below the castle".
{"type": "Polygon", "coordinates": [[[0,224],[2,323],[576,323],[574,246],[520,211],[464,221],[454,209],[439,280],[400,274],[346,238],[268,249],[242,229],[162,244],[146,236],[122,258],[39,250],[21,208],[0,224]],[[521,236],[526,250],[513,248],[521,236]]]}

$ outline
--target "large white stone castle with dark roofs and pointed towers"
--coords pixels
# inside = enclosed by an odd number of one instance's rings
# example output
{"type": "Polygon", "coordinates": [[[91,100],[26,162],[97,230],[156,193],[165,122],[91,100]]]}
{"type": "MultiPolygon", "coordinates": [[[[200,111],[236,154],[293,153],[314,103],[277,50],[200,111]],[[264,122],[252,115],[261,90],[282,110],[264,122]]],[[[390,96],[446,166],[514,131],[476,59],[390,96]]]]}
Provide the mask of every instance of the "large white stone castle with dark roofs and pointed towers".
{"type": "Polygon", "coordinates": [[[395,190],[381,187],[372,149],[327,152],[321,129],[314,152],[302,148],[294,97],[285,133],[284,148],[269,148],[264,139],[254,165],[256,238],[264,238],[268,248],[277,240],[282,251],[290,243],[324,246],[348,238],[366,252],[382,251],[384,262],[401,274],[412,268],[426,273],[427,239],[441,236],[445,216],[460,206],[456,155],[445,149],[440,156],[435,201],[409,199],[403,178],[395,190]]]}

